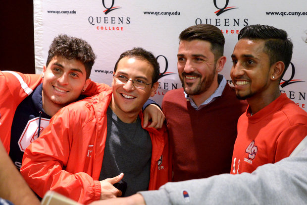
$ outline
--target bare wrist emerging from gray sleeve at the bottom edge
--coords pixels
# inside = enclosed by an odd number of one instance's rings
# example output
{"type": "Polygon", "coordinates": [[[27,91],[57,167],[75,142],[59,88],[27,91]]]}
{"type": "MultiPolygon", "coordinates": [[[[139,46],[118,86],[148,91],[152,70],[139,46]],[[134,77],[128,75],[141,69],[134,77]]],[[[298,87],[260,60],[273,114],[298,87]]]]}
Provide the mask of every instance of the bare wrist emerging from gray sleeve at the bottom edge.
{"type": "Polygon", "coordinates": [[[96,201],[90,205],[146,205],[146,203],[141,194],[135,194],[130,197],[96,201]]]}

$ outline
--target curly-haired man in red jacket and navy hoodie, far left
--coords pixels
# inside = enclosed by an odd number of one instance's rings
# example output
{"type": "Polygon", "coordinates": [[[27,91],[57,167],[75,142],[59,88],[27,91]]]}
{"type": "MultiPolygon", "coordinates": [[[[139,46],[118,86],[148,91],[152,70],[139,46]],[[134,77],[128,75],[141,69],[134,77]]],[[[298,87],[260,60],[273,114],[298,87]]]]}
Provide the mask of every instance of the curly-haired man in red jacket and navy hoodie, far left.
{"type": "Polygon", "coordinates": [[[86,41],[59,35],[50,46],[42,75],[0,71],[1,198],[15,205],[39,204],[13,163],[20,169],[24,149],[45,129],[51,116],[77,100],[82,91],[93,95],[109,89],[89,79],[95,58],[86,41]]]}

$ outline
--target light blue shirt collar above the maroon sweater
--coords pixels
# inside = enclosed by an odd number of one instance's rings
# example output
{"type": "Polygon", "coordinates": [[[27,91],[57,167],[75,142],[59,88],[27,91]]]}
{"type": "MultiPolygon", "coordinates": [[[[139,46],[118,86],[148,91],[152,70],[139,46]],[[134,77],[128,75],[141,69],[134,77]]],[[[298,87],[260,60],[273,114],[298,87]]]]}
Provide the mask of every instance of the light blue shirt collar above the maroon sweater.
{"type": "Polygon", "coordinates": [[[226,79],[223,75],[218,74],[217,76],[217,81],[218,81],[218,87],[216,88],[216,90],[214,91],[214,93],[205,100],[205,102],[203,102],[199,107],[196,106],[196,104],[194,103],[194,101],[192,100],[192,98],[189,97],[189,95],[183,91],[185,98],[187,99],[187,101],[190,101],[192,107],[195,108],[195,110],[200,110],[203,107],[207,106],[208,104],[210,104],[211,102],[213,102],[216,98],[218,98],[219,96],[222,95],[224,88],[226,86],[226,79]]]}

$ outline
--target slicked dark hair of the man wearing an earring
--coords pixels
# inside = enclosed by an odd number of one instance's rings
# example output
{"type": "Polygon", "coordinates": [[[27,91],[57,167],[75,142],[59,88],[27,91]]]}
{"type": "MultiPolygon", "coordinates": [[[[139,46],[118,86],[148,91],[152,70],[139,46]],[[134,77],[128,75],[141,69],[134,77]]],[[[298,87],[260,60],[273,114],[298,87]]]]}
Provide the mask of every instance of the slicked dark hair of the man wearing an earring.
{"type": "Polygon", "coordinates": [[[263,52],[269,56],[270,66],[278,61],[285,64],[282,78],[289,67],[293,50],[293,44],[288,38],[287,32],[273,26],[249,25],[244,27],[238,35],[238,40],[244,38],[265,40],[263,52]]]}

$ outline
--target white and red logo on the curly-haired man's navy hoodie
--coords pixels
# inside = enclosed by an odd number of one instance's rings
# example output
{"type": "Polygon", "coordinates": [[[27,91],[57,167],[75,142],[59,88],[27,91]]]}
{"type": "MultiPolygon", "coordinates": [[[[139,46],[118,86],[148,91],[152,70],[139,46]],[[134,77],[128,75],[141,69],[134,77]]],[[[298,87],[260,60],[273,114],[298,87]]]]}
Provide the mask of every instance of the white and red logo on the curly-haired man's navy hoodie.
{"type": "MultiPolygon", "coordinates": [[[[49,125],[49,121],[50,119],[41,118],[40,134],[49,125]]],[[[38,129],[39,129],[38,125],[39,125],[39,117],[33,118],[28,121],[25,129],[23,130],[18,140],[18,145],[21,151],[25,151],[25,149],[30,145],[30,143],[35,139],[37,139],[38,129]]]]}

